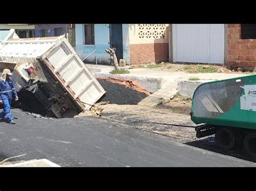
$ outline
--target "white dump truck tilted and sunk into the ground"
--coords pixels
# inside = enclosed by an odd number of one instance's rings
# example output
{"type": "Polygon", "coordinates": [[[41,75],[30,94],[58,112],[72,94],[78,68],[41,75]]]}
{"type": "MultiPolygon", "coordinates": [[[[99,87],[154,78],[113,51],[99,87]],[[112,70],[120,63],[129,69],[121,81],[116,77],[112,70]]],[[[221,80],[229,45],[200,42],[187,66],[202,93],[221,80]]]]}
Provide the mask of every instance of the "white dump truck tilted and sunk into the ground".
{"type": "Polygon", "coordinates": [[[20,39],[14,29],[0,42],[0,69],[14,67],[19,91],[29,91],[58,118],[89,110],[104,94],[64,36],[20,39]]]}

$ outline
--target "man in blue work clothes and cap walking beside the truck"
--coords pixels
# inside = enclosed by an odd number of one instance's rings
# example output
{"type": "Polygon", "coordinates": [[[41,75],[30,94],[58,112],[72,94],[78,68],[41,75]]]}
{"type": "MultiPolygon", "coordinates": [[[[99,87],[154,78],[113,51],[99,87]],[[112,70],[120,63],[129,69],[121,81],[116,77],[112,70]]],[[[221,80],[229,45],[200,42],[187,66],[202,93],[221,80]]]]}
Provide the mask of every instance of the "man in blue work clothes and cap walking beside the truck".
{"type": "Polygon", "coordinates": [[[0,117],[10,124],[15,124],[14,117],[11,115],[11,102],[13,96],[15,101],[18,101],[18,95],[14,87],[14,80],[10,77],[11,75],[12,73],[9,69],[4,69],[0,79],[0,102],[3,103],[4,107],[0,117]]]}

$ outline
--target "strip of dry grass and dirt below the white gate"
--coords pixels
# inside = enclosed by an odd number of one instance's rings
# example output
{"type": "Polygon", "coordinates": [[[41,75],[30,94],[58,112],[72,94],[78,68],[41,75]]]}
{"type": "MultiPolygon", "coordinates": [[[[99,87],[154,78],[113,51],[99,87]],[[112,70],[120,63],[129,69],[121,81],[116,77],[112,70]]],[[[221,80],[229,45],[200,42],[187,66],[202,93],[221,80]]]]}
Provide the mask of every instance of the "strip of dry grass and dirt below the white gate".
{"type": "Polygon", "coordinates": [[[217,73],[218,68],[215,66],[188,65],[183,67],[187,73],[217,73]]]}

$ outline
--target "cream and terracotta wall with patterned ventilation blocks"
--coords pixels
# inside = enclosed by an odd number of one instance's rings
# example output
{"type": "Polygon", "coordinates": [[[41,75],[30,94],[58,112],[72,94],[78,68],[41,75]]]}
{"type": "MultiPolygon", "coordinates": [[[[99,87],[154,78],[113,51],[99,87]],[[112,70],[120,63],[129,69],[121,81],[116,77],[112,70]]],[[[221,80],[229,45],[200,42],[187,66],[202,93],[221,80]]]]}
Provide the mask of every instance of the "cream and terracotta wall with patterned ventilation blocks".
{"type": "Polygon", "coordinates": [[[130,63],[169,60],[169,24],[130,24],[130,63]]]}

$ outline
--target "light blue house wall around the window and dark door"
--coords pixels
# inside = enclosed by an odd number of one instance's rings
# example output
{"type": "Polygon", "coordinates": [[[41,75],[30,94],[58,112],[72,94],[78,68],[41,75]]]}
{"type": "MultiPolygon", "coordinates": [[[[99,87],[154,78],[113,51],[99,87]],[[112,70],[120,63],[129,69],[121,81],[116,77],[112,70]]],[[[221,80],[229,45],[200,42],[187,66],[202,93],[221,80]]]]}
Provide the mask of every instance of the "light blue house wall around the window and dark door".
{"type": "MultiPolygon", "coordinates": [[[[110,46],[109,24],[95,24],[95,45],[83,45],[83,24],[76,24],[76,51],[80,58],[85,58],[97,49],[97,62],[110,63],[110,55],[105,49],[110,46]]],[[[129,24],[123,25],[123,56],[130,63],[129,24]]],[[[95,63],[95,54],[90,55],[84,62],[95,63]]]]}

